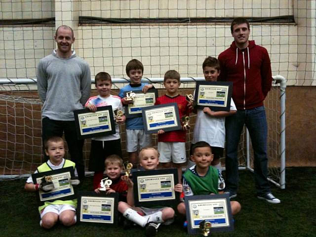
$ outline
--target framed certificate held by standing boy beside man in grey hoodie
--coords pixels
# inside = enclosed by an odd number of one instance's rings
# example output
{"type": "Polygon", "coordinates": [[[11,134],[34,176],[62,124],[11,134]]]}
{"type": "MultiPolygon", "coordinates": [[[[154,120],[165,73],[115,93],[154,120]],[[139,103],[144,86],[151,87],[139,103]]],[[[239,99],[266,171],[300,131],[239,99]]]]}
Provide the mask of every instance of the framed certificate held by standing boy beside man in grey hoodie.
{"type": "Polygon", "coordinates": [[[97,111],[75,110],[75,123],[79,139],[115,134],[112,106],[98,107],[97,111]]]}

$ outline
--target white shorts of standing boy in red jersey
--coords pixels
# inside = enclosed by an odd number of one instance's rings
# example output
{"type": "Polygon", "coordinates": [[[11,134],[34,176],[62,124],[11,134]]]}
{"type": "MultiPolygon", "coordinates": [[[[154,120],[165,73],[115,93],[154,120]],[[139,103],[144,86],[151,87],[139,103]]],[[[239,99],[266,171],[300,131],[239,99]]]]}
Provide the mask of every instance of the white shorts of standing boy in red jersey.
{"type": "Polygon", "coordinates": [[[185,142],[158,142],[157,148],[161,163],[172,161],[175,164],[181,164],[187,161],[185,142]]]}

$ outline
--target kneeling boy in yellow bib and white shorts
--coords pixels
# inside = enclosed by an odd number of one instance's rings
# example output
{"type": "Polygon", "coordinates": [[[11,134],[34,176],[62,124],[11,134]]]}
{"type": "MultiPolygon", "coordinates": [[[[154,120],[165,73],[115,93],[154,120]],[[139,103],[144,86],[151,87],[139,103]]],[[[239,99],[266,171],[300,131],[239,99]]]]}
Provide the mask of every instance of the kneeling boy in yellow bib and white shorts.
{"type": "MultiPolygon", "coordinates": [[[[51,137],[45,142],[45,153],[49,157],[45,163],[41,164],[34,173],[46,172],[66,167],[74,167],[75,175],[78,176],[76,170],[76,164],[69,160],[64,159],[65,148],[64,141],[61,137],[51,137]]],[[[71,180],[71,184],[79,184],[79,180],[71,180]]],[[[52,184],[44,182],[40,184],[34,184],[32,176],[30,176],[24,186],[26,191],[37,192],[39,190],[43,192],[49,192],[54,187],[52,184]]],[[[45,201],[44,205],[39,207],[40,211],[40,226],[45,229],[52,228],[59,220],[64,226],[72,226],[76,223],[76,207],[77,199],[72,200],[55,200],[45,201]]]]}

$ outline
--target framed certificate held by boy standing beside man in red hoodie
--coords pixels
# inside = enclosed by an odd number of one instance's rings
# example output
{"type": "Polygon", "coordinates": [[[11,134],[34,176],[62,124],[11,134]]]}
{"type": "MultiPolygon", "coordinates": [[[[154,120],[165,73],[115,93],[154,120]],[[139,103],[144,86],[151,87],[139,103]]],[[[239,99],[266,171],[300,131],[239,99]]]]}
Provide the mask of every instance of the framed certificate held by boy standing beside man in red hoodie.
{"type": "Polygon", "coordinates": [[[197,81],[195,106],[212,111],[230,111],[233,93],[232,81],[197,81]]]}

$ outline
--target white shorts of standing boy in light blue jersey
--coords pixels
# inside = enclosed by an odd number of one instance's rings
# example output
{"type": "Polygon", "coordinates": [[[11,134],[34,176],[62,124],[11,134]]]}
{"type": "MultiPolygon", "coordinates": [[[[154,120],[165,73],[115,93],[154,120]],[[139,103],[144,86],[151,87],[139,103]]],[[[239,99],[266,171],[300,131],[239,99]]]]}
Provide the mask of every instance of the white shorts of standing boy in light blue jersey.
{"type": "Polygon", "coordinates": [[[144,129],[126,129],[126,151],[137,152],[152,145],[151,134],[145,134],[144,129]]]}

